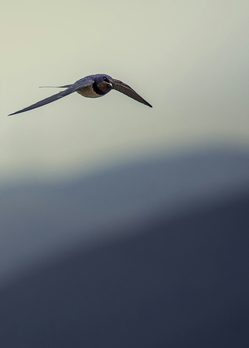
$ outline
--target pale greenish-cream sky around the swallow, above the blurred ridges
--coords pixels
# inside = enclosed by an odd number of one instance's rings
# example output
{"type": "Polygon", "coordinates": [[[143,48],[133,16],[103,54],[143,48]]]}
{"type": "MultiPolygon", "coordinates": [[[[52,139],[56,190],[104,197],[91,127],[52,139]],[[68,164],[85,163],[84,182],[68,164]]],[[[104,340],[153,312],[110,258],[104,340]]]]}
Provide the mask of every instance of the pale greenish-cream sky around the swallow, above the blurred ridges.
{"type": "Polygon", "coordinates": [[[2,178],[91,171],[157,149],[249,143],[247,1],[24,1],[1,4],[2,178]],[[7,117],[106,73],[111,91],[77,93],[7,117]]]}

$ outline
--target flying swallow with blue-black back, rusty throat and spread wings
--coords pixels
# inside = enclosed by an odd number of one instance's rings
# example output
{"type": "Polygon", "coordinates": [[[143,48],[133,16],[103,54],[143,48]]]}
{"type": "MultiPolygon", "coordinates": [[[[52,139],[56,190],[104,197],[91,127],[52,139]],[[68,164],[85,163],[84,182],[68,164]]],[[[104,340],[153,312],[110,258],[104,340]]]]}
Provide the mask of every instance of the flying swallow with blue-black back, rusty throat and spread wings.
{"type": "Polygon", "coordinates": [[[124,82],[115,80],[111,76],[106,74],[96,74],[83,77],[82,79],[74,82],[71,85],[65,86],[42,86],[42,87],[53,87],[53,88],[66,88],[65,90],[52,95],[51,97],[40,100],[39,102],[28,106],[22,110],[10,113],[8,116],[15,115],[17,113],[29,111],[32,109],[39,108],[40,106],[46,105],[48,103],[52,103],[55,100],[58,100],[62,97],[65,97],[68,94],[73,92],[77,92],[81,94],[83,97],[88,98],[97,98],[105,95],[110,92],[111,89],[115,89],[130,98],[135,99],[139,103],[145,104],[152,108],[152,105],[146,102],[139,94],[135,92],[130,86],[126,85],[124,82]]]}

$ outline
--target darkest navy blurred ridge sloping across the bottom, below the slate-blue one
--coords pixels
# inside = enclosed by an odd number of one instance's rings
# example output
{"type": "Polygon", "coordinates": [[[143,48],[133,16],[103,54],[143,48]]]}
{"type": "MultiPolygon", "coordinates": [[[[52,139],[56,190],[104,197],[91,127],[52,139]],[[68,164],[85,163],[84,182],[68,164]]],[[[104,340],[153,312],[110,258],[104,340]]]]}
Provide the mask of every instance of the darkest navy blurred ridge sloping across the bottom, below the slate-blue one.
{"type": "Polygon", "coordinates": [[[162,207],[31,272],[1,292],[1,347],[248,347],[248,208],[247,195],[171,219],[162,207]]]}

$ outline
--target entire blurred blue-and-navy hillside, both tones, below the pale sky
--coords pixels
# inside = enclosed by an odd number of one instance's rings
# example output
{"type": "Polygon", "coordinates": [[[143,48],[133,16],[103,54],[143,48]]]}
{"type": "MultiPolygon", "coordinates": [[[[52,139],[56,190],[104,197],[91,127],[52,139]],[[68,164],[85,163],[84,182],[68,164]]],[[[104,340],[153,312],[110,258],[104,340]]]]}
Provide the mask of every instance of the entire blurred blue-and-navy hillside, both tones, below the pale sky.
{"type": "Polygon", "coordinates": [[[248,347],[248,153],[1,192],[1,347],[248,347]]]}

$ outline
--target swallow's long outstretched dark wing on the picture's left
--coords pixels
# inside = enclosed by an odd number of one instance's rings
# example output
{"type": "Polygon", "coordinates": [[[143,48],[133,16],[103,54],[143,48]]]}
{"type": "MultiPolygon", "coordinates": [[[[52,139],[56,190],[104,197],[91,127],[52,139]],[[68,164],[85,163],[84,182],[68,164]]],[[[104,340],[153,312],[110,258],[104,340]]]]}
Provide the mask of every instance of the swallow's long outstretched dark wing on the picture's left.
{"type": "Polygon", "coordinates": [[[61,92],[59,92],[57,94],[51,95],[51,97],[45,98],[43,100],[40,100],[39,102],[37,102],[35,104],[32,104],[32,105],[28,106],[27,108],[24,108],[24,109],[16,111],[16,112],[13,112],[13,113],[9,114],[8,116],[15,115],[16,113],[20,113],[20,112],[24,112],[24,111],[36,109],[36,108],[39,108],[40,106],[43,106],[45,104],[52,103],[55,100],[58,100],[58,99],[60,99],[62,97],[65,97],[66,95],[71,94],[71,93],[75,92],[78,89],[81,89],[81,88],[84,88],[84,87],[87,87],[87,86],[91,85],[93,83],[93,81],[94,80],[92,78],[90,78],[90,77],[78,80],[73,85],[68,87],[66,90],[63,90],[63,91],[61,91],[61,92]]]}

